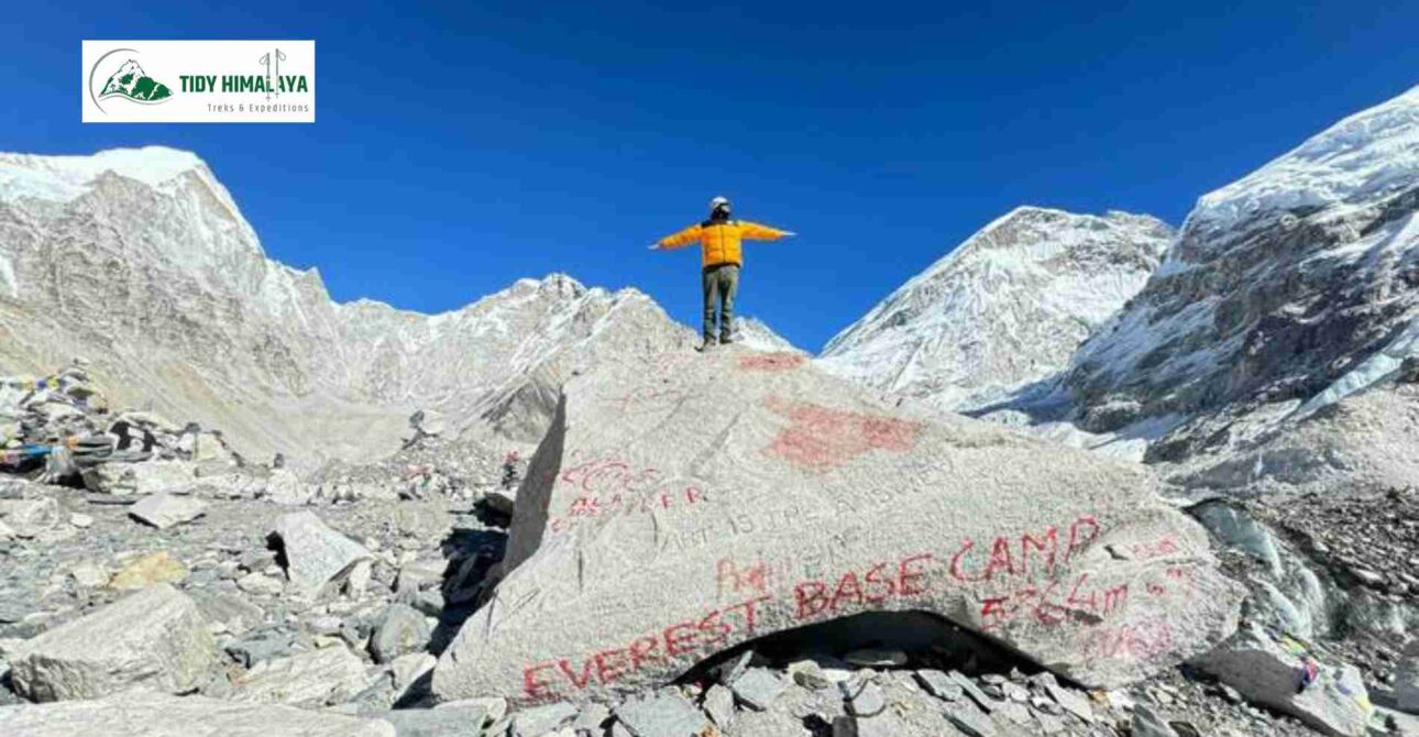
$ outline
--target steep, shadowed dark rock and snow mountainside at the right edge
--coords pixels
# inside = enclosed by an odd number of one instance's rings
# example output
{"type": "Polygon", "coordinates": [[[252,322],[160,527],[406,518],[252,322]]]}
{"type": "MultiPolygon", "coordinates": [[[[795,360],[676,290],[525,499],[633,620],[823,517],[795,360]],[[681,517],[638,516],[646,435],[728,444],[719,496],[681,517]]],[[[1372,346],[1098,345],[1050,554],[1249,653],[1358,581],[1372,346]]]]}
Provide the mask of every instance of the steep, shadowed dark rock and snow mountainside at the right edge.
{"type": "MultiPolygon", "coordinates": [[[[1416,212],[1419,88],[1203,196],[1148,285],[1076,355],[1080,420],[1161,423],[1148,460],[1196,462],[1384,385],[1419,354],[1416,212]]],[[[1254,466],[1253,480],[1271,473],[1254,466]]]]}

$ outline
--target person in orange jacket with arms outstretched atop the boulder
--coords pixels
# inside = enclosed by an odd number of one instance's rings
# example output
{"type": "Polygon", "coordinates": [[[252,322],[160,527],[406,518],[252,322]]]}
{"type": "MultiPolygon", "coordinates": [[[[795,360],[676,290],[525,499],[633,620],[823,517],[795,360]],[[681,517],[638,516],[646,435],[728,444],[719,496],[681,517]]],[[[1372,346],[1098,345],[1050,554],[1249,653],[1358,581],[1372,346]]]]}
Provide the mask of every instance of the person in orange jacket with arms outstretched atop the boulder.
{"type": "Polygon", "coordinates": [[[761,226],[746,220],[731,220],[729,200],[715,197],[710,200],[708,220],[660,239],[650,247],[653,251],[671,250],[683,249],[697,240],[700,241],[700,278],[704,287],[705,318],[704,344],[697,351],[704,351],[714,345],[717,304],[719,312],[719,342],[734,342],[734,297],[739,291],[739,268],[744,266],[741,241],[779,240],[792,234],[788,230],[761,226]]]}

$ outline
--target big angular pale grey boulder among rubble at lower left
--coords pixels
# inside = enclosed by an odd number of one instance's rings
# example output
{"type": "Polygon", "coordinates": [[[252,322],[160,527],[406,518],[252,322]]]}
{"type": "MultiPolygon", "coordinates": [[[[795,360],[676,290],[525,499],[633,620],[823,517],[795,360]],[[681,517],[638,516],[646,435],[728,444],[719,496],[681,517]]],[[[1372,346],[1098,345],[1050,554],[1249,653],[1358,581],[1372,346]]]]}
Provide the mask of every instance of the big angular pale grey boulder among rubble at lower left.
{"type": "Polygon", "coordinates": [[[24,642],[10,677],[34,701],[99,699],[135,684],[177,693],[217,662],[197,605],[158,584],[24,642]]]}

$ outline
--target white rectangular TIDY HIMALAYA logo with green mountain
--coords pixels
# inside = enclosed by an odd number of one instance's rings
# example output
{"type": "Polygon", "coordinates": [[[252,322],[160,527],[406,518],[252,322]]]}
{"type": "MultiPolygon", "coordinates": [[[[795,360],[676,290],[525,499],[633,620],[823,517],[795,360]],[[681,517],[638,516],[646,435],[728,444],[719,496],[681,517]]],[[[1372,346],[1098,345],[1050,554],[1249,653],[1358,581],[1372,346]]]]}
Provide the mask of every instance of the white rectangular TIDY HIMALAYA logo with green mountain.
{"type": "Polygon", "coordinates": [[[315,122],[315,41],[92,41],[84,122],[315,122]]]}

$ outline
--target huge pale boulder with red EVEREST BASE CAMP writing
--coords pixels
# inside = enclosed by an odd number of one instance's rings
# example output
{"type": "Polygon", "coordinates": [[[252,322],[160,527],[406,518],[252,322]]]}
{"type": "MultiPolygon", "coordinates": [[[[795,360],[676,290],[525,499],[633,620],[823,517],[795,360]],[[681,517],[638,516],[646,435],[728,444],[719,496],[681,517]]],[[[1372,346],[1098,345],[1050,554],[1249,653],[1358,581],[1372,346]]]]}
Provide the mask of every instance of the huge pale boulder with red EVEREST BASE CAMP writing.
{"type": "Polygon", "coordinates": [[[1115,687],[1236,629],[1240,588],[1148,471],[895,410],[803,356],[572,379],[443,699],[603,697],[772,632],[925,611],[1115,687]]]}

